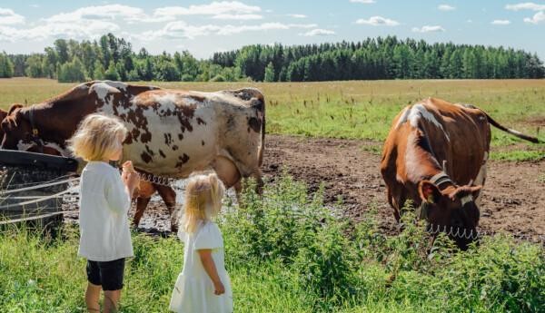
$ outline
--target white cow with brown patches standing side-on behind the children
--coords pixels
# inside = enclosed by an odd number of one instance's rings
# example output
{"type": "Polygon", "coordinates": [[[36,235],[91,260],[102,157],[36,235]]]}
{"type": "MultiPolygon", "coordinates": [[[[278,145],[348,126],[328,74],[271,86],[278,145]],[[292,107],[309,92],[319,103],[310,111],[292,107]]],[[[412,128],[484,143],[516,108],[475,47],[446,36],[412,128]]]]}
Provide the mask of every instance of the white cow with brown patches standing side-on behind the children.
{"type": "MultiPolygon", "coordinates": [[[[65,142],[84,116],[104,112],[125,123],[129,135],[123,159],[133,160],[137,171],[182,179],[213,168],[228,188],[238,190],[245,177],[263,185],[264,99],[256,89],[200,93],[95,81],[11,111],[2,122],[3,149],[35,144],[35,130],[40,140],[66,155],[65,142]]],[[[136,225],[155,190],[175,216],[170,187],[141,185],[136,225]]]]}

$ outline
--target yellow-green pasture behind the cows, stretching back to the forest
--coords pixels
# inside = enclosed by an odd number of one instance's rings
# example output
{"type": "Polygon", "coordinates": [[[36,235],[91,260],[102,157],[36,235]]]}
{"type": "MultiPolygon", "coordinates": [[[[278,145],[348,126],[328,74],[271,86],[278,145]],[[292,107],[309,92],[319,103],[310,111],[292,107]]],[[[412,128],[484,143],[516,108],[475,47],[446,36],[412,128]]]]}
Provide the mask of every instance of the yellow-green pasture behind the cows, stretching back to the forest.
{"type": "MultiPolygon", "coordinates": [[[[267,132],[314,137],[369,139],[381,142],[391,120],[407,104],[426,97],[453,103],[472,103],[496,121],[545,142],[545,81],[543,80],[406,80],[325,83],[163,83],[164,88],[217,91],[244,86],[265,95],[267,132]]],[[[0,80],[0,107],[11,103],[38,103],[63,93],[74,83],[45,79],[0,80]]],[[[491,158],[538,160],[543,145],[521,143],[492,128],[492,146],[509,147],[491,158]]],[[[380,143],[377,143],[380,146],[380,143]]]]}

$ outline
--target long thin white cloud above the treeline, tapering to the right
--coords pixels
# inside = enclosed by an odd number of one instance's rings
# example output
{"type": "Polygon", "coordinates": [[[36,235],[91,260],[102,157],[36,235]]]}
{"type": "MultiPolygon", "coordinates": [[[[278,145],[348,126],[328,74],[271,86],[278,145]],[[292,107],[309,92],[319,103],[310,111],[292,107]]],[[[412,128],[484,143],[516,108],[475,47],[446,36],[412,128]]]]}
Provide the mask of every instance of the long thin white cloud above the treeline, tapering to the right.
{"type": "Polygon", "coordinates": [[[156,38],[167,39],[194,39],[195,37],[207,36],[212,34],[230,35],[241,34],[244,32],[257,32],[269,30],[289,30],[292,28],[315,28],[316,24],[281,24],[281,23],[263,23],[257,25],[214,25],[206,24],[193,26],[183,21],[175,21],[166,24],[163,29],[158,31],[147,31],[137,35],[141,40],[153,40],[156,38]]]}

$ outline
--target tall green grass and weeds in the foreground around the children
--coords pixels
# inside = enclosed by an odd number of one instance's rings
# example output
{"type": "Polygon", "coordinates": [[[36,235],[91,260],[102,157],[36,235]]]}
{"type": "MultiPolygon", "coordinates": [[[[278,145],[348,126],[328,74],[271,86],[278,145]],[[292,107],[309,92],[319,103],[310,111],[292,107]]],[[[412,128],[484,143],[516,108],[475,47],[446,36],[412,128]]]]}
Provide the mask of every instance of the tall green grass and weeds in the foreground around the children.
{"type": "MultiPolygon", "coordinates": [[[[322,191],[283,175],[251,188],[243,206],[226,203],[218,219],[233,281],[236,312],[543,312],[542,246],[509,236],[468,251],[440,237],[433,247],[414,216],[388,237],[371,214],[342,218],[322,191]]],[[[174,238],[134,233],[125,269],[122,312],[166,312],[182,269],[174,238]]],[[[77,229],[47,240],[28,230],[0,235],[1,312],[83,312],[84,259],[77,229]]]]}

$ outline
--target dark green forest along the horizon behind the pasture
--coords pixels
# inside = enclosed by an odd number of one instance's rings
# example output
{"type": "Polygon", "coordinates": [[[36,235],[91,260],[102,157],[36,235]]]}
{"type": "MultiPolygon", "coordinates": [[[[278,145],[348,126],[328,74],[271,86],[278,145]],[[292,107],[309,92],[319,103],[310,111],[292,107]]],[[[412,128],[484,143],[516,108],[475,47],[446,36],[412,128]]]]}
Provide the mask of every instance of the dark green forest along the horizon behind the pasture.
{"type": "Polygon", "coordinates": [[[337,44],[253,44],[198,60],[187,51],[152,55],[114,34],[57,39],[43,54],[0,54],[0,77],[88,80],[319,82],[385,79],[543,78],[537,54],[504,47],[428,44],[395,36],[337,44]]]}

